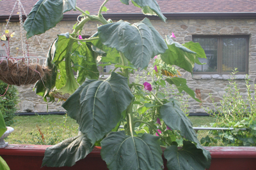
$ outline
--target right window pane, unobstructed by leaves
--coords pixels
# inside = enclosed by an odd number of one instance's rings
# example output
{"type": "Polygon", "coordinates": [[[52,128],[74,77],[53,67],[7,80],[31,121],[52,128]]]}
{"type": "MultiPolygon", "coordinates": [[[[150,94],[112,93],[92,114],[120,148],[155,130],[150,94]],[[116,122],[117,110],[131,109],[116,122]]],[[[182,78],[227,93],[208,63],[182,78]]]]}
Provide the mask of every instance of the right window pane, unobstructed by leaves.
{"type": "Polygon", "coordinates": [[[237,68],[244,72],[246,69],[246,38],[222,39],[222,71],[232,72],[237,68]]]}

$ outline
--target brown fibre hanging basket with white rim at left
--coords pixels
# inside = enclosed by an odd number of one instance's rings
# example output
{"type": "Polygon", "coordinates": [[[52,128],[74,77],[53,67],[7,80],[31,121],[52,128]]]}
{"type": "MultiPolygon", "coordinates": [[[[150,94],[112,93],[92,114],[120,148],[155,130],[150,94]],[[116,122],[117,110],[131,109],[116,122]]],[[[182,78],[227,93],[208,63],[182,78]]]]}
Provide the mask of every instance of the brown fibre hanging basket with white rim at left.
{"type": "Polygon", "coordinates": [[[28,85],[44,79],[51,70],[44,67],[46,57],[0,57],[0,80],[10,85],[28,85]]]}

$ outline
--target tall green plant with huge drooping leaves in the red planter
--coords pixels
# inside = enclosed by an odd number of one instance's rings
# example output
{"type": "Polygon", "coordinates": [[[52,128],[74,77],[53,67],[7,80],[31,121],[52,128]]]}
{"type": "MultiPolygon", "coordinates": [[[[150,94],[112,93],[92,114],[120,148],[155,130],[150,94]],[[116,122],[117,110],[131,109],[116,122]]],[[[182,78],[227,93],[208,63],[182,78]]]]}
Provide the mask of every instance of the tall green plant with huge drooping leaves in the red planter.
{"type": "MultiPolygon", "coordinates": [[[[168,169],[209,168],[210,153],[200,145],[179,102],[159,92],[167,82],[195,99],[186,80],[166,78],[158,71],[158,80],[152,81],[153,89],[148,82],[142,85],[129,81],[131,73],[146,69],[156,55],[161,58],[159,64],[163,67],[157,65],[163,72],[164,68],[176,65],[192,73],[195,62],[200,64],[198,57],[205,58],[204,50],[198,43],[180,45],[169,36],[164,40],[148,18],[134,24],[106,20],[102,11],[107,10],[108,1],[102,3],[97,15],[90,15],[76,6],[76,0],[40,0],[24,23],[30,38],[54,27],[66,11],[82,13],[74,31],[59,34],[52,43],[47,60],[52,73],[35,85],[36,93],[45,101],[47,97],[54,99],[51,94],[71,95],[63,108],[79,124],[79,134],[47,148],[42,166],[73,166],[77,160],[84,159],[93,146],[101,145],[102,159],[109,169],[163,169],[161,146],[166,148],[164,157],[168,160],[168,169]],[[88,21],[100,22],[102,26],[90,38],[83,39],[79,32],[88,21]],[[106,80],[98,80],[97,59],[100,58],[115,66],[106,80]],[[77,79],[73,71],[77,71],[77,79]],[[138,110],[134,110],[134,104],[139,106],[138,110]],[[147,118],[134,117],[138,112],[147,118]],[[122,131],[118,131],[120,125],[124,125],[122,131]],[[138,126],[147,127],[148,131],[136,132],[138,126]],[[172,131],[160,132],[164,127],[172,131]],[[182,149],[177,147],[177,138],[183,141],[182,149]]],[[[120,1],[129,5],[129,0],[120,1]]],[[[165,22],[156,0],[131,2],[143,13],[158,15],[165,22]]],[[[165,71],[167,74],[170,70],[165,71]]]]}

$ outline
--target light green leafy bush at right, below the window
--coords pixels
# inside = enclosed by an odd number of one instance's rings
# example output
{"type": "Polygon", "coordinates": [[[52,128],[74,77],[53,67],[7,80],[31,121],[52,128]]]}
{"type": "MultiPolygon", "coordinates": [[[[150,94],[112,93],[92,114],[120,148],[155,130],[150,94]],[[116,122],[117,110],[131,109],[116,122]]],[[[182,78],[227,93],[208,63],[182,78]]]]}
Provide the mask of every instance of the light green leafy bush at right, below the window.
{"type": "MultiPolygon", "coordinates": [[[[211,131],[213,137],[207,136],[201,139],[201,143],[209,146],[213,143],[223,143],[225,146],[256,146],[256,103],[255,89],[249,84],[250,79],[246,76],[247,96],[244,97],[239,92],[236,78],[237,69],[231,73],[227,94],[223,95],[223,100],[220,101],[221,106],[214,103],[216,112],[212,110],[210,113],[216,117],[216,122],[212,127],[228,127],[234,128],[230,131],[211,131]],[[246,129],[246,131],[241,131],[246,129]]],[[[213,103],[213,102],[212,102],[213,103]]]]}

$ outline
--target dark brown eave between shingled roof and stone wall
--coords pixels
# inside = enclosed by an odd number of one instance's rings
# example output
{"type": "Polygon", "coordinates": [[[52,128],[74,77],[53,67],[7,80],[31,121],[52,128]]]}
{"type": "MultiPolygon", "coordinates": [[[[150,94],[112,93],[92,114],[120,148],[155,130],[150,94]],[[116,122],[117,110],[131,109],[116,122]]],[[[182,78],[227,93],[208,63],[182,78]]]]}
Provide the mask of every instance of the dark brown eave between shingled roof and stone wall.
{"type": "MultiPolygon", "coordinates": [[[[163,13],[167,19],[255,19],[256,12],[252,13],[163,13]]],[[[105,18],[112,20],[138,20],[148,17],[152,20],[159,20],[157,16],[143,15],[142,13],[106,13],[103,14],[105,18]]],[[[64,14],[62,20],[76,20],[78,14],[64,14]]],[[[1,15],[0,22],[6,22],[8,15],[1,15]]],[[[26,17],[23,16],[25,19],[26,17]]],[[[11,22],[19,22],[19,15],[13,15],[11,22]]]]}

